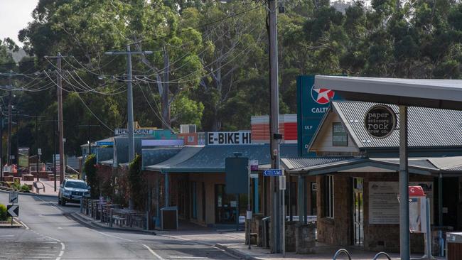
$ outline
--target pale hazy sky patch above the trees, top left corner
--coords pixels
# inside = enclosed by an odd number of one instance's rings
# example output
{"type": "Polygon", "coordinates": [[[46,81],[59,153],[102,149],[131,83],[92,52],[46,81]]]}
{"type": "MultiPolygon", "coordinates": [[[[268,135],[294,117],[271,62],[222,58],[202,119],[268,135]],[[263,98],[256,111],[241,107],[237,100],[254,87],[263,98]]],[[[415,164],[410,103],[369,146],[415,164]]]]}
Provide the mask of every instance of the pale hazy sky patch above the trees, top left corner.
{"type": "Polygon", "coordinates": [[[22,46],[18,32],[32,21],[31,14],[37,3],[38,0],[0,0],[0,39],[9,37],[22,46]]]}

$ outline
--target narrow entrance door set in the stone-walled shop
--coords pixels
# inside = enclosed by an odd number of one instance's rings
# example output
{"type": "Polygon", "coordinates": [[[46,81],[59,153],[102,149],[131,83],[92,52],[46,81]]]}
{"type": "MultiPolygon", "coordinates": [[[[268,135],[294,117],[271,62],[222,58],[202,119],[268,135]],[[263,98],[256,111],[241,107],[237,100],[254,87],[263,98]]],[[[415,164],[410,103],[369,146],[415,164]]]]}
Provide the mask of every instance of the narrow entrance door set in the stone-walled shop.
{"type": "Polygon", "coordinates": [[[363,180],[353,178],[353,244],[364,245],[363,180]]]}

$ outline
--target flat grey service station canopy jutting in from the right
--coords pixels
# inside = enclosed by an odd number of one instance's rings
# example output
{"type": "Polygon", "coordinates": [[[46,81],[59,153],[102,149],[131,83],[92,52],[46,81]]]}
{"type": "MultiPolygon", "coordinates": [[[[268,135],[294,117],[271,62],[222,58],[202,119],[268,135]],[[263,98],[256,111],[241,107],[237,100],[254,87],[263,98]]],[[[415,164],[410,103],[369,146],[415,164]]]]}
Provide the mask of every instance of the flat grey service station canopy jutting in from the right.
{"type": "Polygon", "coordinates": [[[314,84],[348,100],[462,110],[462,80],[316,76],[314,84]]]}

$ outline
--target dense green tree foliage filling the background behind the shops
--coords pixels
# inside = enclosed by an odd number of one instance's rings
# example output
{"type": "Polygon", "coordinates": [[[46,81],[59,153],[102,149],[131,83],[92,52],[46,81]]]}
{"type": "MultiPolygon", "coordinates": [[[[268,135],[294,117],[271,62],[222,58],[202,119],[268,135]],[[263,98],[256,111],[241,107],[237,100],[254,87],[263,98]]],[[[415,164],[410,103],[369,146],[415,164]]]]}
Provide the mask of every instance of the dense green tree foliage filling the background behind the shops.
{"type": "MultiPolygon", "coordinates": [[[[345,74],[377,77],[461,77],[462,4],[452,0],[284,1],[279,13],[281,113],[296,113],[296,75],[345,74]]],[[[133,55],[135,120],[141,126],[199,130],[249,129],[252,115],[267,114],[268,45],[264,1],[215,0],[41,0],[33,21],[19,33],[33,58],[9,69],[45,71],[55,80],[60,52],[66,153],[80,153],[90,139],[127,124],[123,55],[107,50],[152,50],[133,55]],[[91,112],[90,112],[91,111],[91,112]],[[96,118],[97,117],[97,118],[96,118]],[[104,125],[103,125],[104,124],[104,125]]],[[[9,63],[0,44],[0,63],[9,63]]],[[[48,78],[50,77],[50,78],[48,78]]],[[[1,77],[5,80],[5,77],[1,77]]],[[[18,77],[16,85],[31,79],[18,77]]],[[[25,114],[47,119],[56,113],[55,88],[18,92],[25,114]]],[[[21,146],[34,146],[23,119],[21,146]]],[[[41,124],[50,154],[52,124],[41,124]]]]}

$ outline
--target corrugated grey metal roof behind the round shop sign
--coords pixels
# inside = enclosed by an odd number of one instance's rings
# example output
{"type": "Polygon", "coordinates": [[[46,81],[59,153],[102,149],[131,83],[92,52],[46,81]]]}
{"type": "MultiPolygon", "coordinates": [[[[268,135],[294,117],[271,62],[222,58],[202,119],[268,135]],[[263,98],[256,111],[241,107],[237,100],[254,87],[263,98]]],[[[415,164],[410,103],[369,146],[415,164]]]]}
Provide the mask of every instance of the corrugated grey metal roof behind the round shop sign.
{"type": "MultiPolygon", "coordinates": [[[[368,109],[377,103],[332,102],[335,112],[345,123],[353,140],[360,148],[385,148],[399,146],[399,109],[389,104],[397,113],[397,129],[385,139],[372,138],[365,129],[364,117],[368,109]]],[[[462,111],[409,107],[409,146],[462,146],[462,111]]]]}

